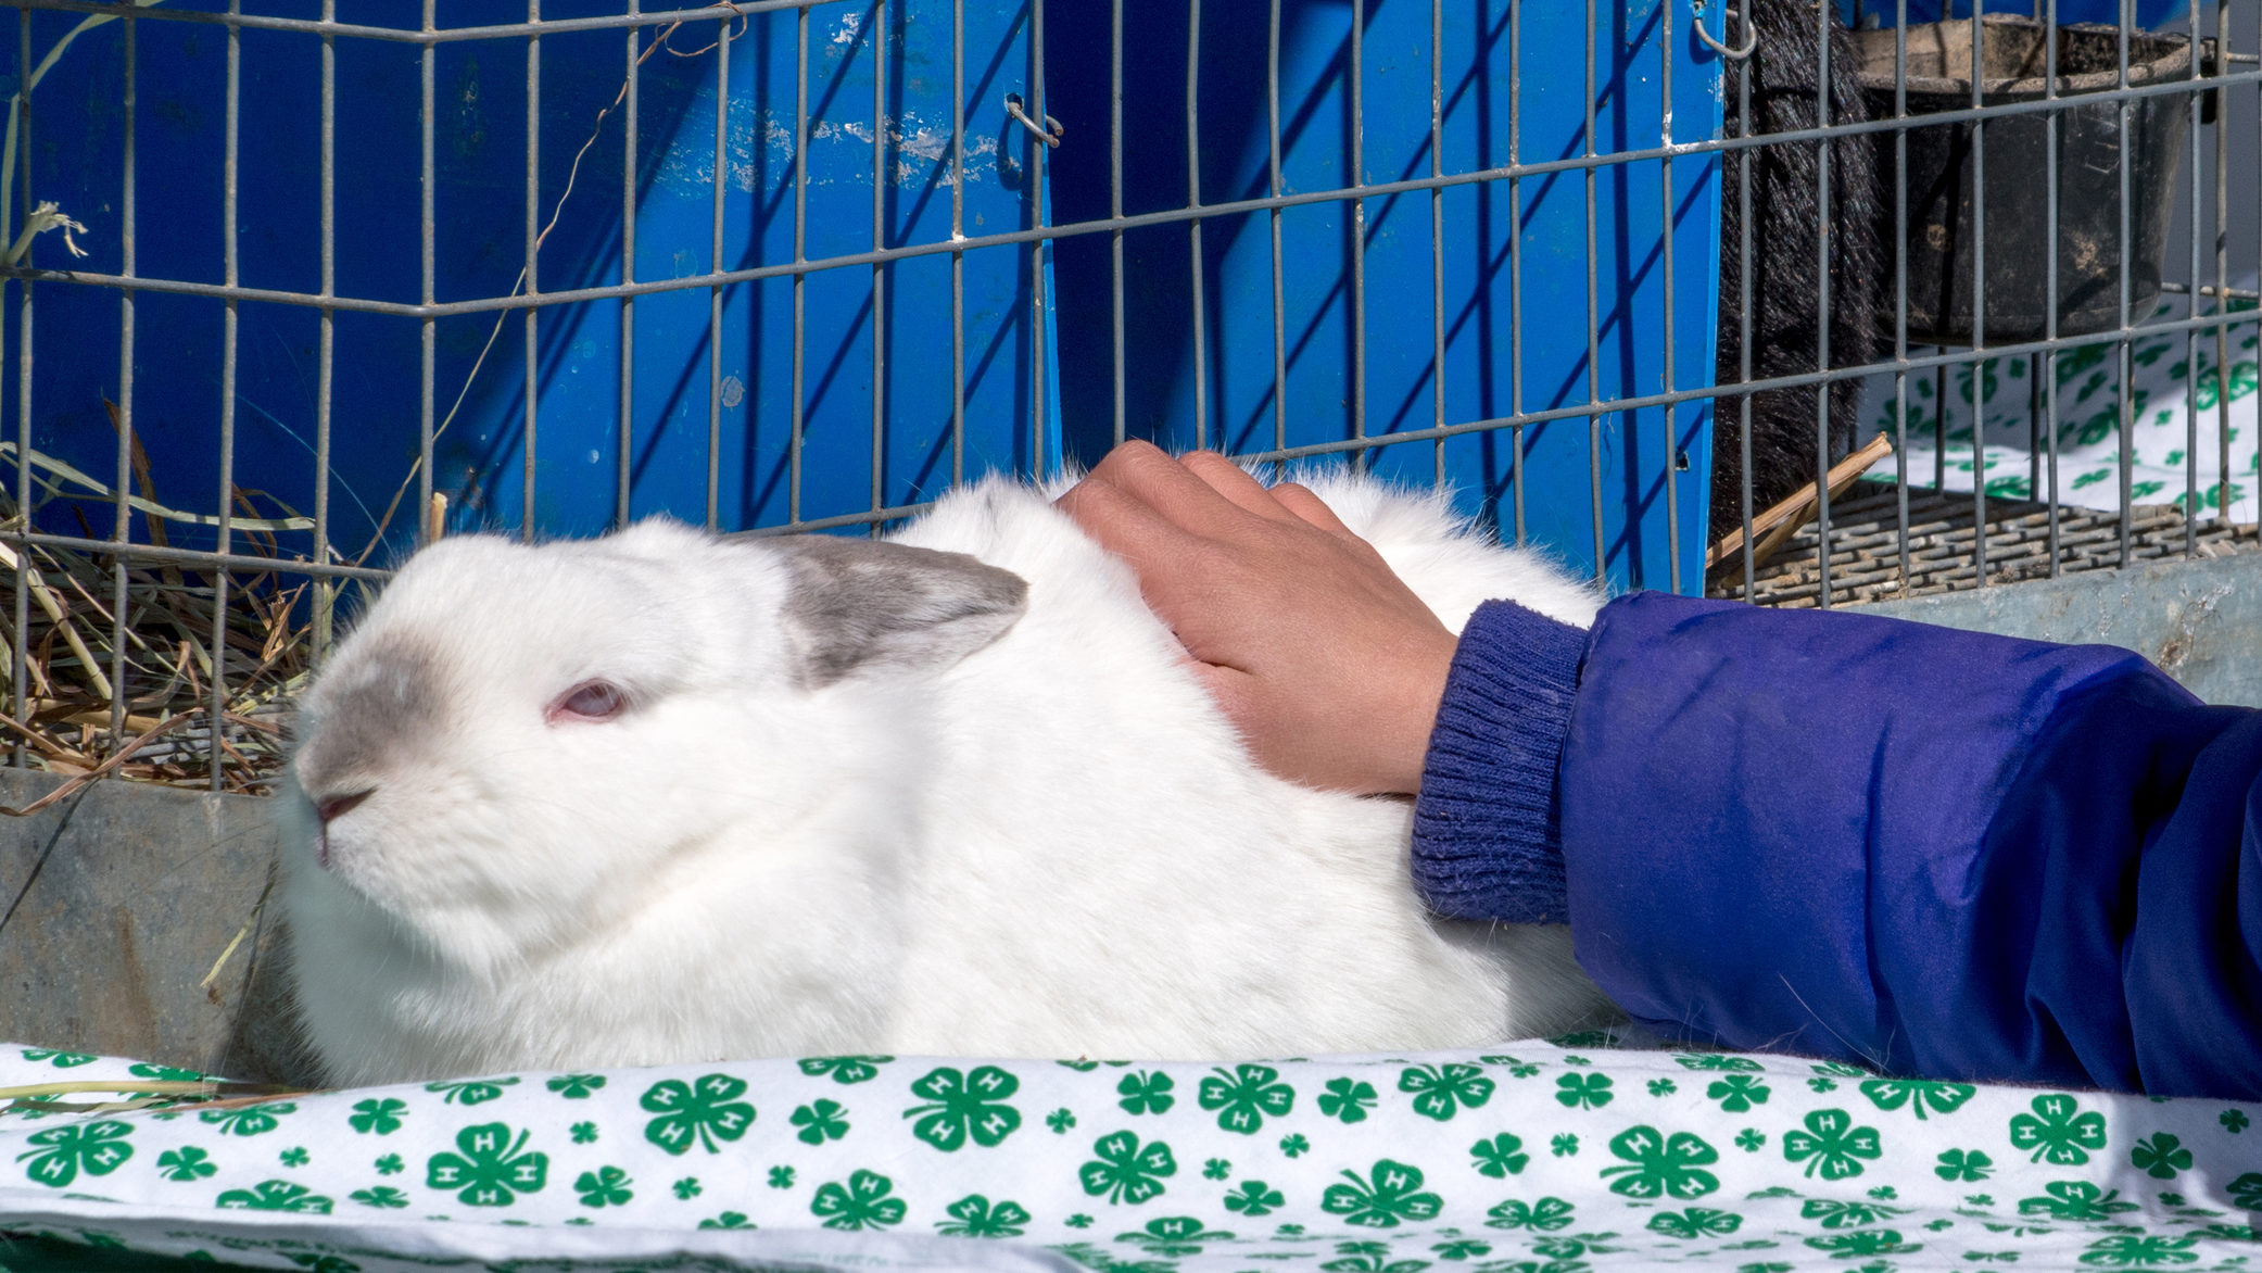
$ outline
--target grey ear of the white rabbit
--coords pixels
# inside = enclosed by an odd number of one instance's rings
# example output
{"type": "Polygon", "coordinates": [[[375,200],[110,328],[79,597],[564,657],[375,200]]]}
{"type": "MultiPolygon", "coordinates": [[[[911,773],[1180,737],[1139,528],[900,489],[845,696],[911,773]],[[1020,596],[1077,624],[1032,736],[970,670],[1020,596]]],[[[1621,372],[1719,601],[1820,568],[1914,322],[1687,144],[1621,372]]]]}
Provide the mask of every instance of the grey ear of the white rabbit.
{"type": "Polygon", "coordinates": [[[767,547],[792,570],[785,629],[810,687],[862,672],[939,672],[1004,635],[1029,604],[1020,574],[961,552],[839,536],[767,547]]]}

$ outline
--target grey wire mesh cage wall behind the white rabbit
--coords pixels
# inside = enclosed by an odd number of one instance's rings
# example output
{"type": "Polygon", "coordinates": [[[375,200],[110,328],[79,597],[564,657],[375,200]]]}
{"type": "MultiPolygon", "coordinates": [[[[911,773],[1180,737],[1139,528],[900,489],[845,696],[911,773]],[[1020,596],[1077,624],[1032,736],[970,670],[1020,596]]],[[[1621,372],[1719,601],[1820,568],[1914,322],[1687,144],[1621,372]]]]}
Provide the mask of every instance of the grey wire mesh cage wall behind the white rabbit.
{"type": "Polygon", "coordinates": [[[2251,545],[2262,9],[1744,5],[1807,43],[1717,0],[16,0],[16,762],[262,789],[437,534],[882,529],[1124,436],[1773,604],[2251,545]],[[1753,57],[1812,63],[1789,124],[1753,57]]]}

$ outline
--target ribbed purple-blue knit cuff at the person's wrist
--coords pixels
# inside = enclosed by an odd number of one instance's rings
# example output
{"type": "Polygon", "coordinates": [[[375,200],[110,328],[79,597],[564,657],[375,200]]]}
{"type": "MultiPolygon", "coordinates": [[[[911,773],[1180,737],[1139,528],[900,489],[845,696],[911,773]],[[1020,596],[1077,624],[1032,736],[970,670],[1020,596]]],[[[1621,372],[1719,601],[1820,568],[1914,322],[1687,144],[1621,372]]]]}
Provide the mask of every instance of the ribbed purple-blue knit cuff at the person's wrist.
{"type": "Polygon", "coordinates": [[[1414,798],[1414,886],[1436,913],[1565,923],[1556,767],[1586,635],[1513,601],[1461,631],[1414,798]]]}

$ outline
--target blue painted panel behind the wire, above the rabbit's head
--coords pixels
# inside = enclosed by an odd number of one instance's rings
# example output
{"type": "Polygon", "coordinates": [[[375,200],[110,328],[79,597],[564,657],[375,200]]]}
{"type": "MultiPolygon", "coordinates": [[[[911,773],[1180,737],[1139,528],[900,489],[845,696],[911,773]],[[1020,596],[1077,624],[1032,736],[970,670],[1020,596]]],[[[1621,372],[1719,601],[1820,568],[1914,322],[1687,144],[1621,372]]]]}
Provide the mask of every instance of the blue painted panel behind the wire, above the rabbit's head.
{"type": "MultiPolygon", "coordinates": [[[[217,7],[201,0],[192,7],[217,7]]],[[[398,2],[348,0],[342,20],[398,23],[398,2]]],[[[247,11],[303,14],[303,5],[253,0],[247,11]]],[[[545,18],[620,11],[618,0],[554,0],[545,18]]],[[[873,138],[884,140],[880,242],[950,237],[950,0],[887,7],[889,63],[882,120],[873,120],[875,5],[810,9],[810,154],[805,256],[860,253],[875,244],[873,138]]],[[[525,16],[513,0],[450,0],[450,25],[525,16]]],[[[14,41],[14,14],[0,32],[14,41]]],[[[75,14],[32,14],[38,59],[75,14]]],[[[226,36],[217,27],[140,20],[138,47],[138,271],[222,280],[222,151],[226,36]]],[[[86,269],[120,269],[122,25],[86,32],[36,90],[34,197],[57,199],[88,224],[86,269]]],[[[672,50],[710,45],[715,25],[685,25],[672,50]]],[[[645,38],[651,38],[647,29],[645,38]]],[[[1027,7],[966,5],[968,235],[1036,224],[1031,140],[1004,115],[1007,93],[1027,95],[1027,7]]],[[[547,222],[572,183],[541,251],[541,287],[620,280],[622,32],[550,34],[541,41],[541,197],[547,222]],[[604,124],[599,127],[599,115],[604,124]],[[579,156],[584,140],[595,142],[579,156]]],[[[9,45],[14,47],[14,43],[9,45]]],[[[319,289],[319,75],[321,43],[290,32],[242,34],[240,278],[253,287],[319,289]]],[[[796,14],[733,25],[728,109],[722,111],[724,242],[713,246],[717,176],[717,59],[661,52],[642,63],[638,118],[636,278],[667,280],[794,260],[796,14]]],[[[337,292],[418,298],[418,93],[414,45],[337,41],[337,292]]],[[[437,294],[441,301],[504,296],[525,262],[527,43],[443,43],[434,63],[437,294]]],[[[61,244],[36,260],[66,265],[61,244]]],[[[1056,409],[1036,409],[1043,314],[1034,310],[1027,246],[964,258],[966,470],[1027,470],[1056,457],[1056,409]]],[[[803,285],[803,518],[857,513],[939,493],[950,479],[950,258],[884,267],[887,346],[880,387],[887,430],[873,475],[873,269],[841,267],[803,285]],[[878,491],[875,491],[878,488],[878,491]]],[[[633,516],[708,509],[708,303],[670,292],[636,301],[633,516]]],[[[118,398],[115,292],[43,285],[36,301],[32,425],[36,445],[90,473],[113,468],[102,412],[118,398]]],[[[238,308],[235,484],[312,509],[314,366],[319,321],[290,305],[238,308]]],[[[9,314],[14,319],[14,314],[9,314]]],[[[136,423],[152,452],[158,495],[213,509],[219,488],[222,303],[143,294],[136,344],[136,423]]],[[[789,511],[794,285],[735,285],[722,305],[722,423],[717,520],[769,525],[789,511]]],[[[434,396],[441,416],[461,396],[437,448],[439,488],[452,491],[459,527],[518,525],[588,534],[615,518],[622,305],[597,301],[543,310],[534,341],[536,506],[523,509],[527,344],[525,321],[493,314],[437,323],[434,396]],[[482,362],[484,357],[484,362],[482,362]],[[473,369],[477,366],[477,373],[473,369]]],[[[9,332],[14,355],[14,332],[9,332]]],[[[357,552],[396,491],[412,484],[418,421],[421,323],[339,314],[333,423],[333,540],[357,552]]],[[[14,396],[7,400],[14,409],[14,396]]],[[[7,423],[14,436],[14,421],[7,423]]],[[[106,511],[90,513],[109,529],[106,511]]],[[[77,531],[68,509],[45,522],[77,531]]],[[[407,513],[385,540],[407,543],[407,513]]],[[[195,543],[174,534],[174,543],[195,543]]],[[[382,554],[378,556],[382,561],[382,554]]]]}

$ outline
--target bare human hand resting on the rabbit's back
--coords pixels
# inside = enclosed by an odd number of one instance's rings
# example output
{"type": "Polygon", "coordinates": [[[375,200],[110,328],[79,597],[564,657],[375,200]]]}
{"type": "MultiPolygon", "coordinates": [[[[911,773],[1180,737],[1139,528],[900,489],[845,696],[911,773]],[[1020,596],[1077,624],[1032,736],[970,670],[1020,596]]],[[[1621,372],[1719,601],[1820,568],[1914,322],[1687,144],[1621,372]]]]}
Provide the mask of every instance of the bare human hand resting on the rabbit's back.
{"type": "Polygon", "coordinates": [[[1421,787],[1454,635],[1312,491],[1133,441],[1059,506],[1131,563],[1260,764],[1337,791],[1421,787]]]}

